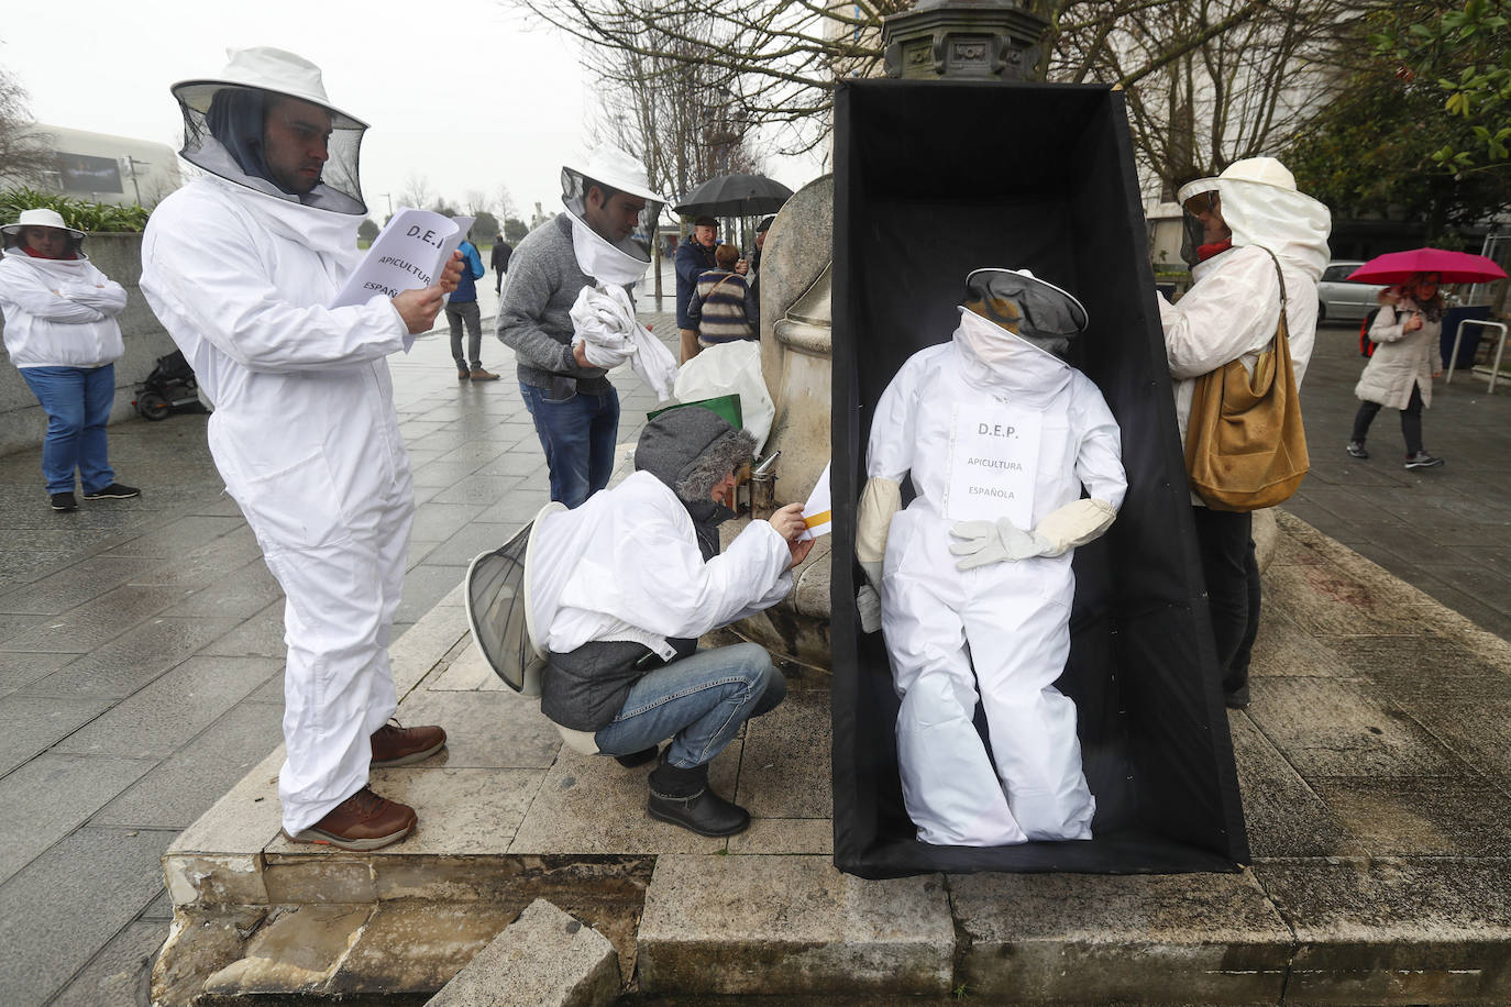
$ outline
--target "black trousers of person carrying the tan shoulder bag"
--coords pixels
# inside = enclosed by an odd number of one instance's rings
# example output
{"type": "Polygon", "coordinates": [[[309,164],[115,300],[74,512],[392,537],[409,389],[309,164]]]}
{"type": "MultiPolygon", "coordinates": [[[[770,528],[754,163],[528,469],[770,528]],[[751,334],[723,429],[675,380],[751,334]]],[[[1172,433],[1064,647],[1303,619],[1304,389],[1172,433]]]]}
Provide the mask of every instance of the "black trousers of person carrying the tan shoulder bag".
{"type": "Polygon", "coordinates": [[[1212,639],[1227,696],[1248,699],[1248,658],[1259,636],[1259,562],[1248,513],[1192,507],[1212,639]]]}

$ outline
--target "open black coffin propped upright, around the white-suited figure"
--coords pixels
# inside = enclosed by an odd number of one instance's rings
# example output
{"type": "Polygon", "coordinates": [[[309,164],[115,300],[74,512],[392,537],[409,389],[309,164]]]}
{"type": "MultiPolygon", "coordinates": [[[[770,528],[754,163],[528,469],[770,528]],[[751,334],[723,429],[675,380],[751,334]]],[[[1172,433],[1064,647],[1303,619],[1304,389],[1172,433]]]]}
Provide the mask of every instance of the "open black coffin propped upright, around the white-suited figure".
{"type": "MultiPolygon", "coordinates": [[[[1123,95],[1100,86],[857,80],[834,136],[834,862],[925,871],[1230,871],[1248,861],[1123,95]],[[919,842],[898,782],[898,699],[855,616],[870,409],[949,338],[963,279],[1027,267],[1074,293],[1079,367],[1123,429],[1127,500],[1076,554],[1071,655],[1094,839],[919,842]]],[[[907,488],[905,488],[905,498],[907,488]]]]}

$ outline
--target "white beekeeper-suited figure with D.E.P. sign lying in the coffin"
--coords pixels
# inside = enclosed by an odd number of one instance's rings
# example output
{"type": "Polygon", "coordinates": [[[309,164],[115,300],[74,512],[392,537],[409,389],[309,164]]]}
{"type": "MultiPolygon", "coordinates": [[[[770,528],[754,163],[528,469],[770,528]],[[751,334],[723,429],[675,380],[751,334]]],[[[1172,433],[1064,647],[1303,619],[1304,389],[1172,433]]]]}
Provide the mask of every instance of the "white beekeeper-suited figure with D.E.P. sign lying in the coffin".
{"type": "MultiPolygon", "coordinates": [[[[978,269],[953,338],[908,358],[876,402],[855,556],[881,590],[902,797],[923,842],[1091,838],[1076,704],[1055,679],[1071,553],[1112,524],[1127,482],[1112,412],[1062,359],[1085,325],[1080,302],[1027,270],[978,269]]],[[[860,601],[870,631],[870,589],[860,601]]]]}

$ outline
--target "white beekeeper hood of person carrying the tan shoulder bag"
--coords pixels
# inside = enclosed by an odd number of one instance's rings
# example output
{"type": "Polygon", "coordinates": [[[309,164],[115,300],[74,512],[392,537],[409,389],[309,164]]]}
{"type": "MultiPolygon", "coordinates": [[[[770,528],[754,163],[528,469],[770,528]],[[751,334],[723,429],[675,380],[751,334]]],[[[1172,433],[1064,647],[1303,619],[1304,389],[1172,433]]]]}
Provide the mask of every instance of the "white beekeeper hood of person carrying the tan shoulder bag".
{"type": "Polygon", "coordinates": [[[1328,208],[1296,190],[1296,180],[1274,157],[1248,157],[1228,165],[1215,178],[1198,178],[1180,187],[1186,239],[1182,255],[1197,264],[1203,243],[1198,214],[1216,205],[1233,233],[1233,246],[1259,245],[1283,263],[1316,279],[1327,266],[1327,237],[1333,229],[1328,208]]]}

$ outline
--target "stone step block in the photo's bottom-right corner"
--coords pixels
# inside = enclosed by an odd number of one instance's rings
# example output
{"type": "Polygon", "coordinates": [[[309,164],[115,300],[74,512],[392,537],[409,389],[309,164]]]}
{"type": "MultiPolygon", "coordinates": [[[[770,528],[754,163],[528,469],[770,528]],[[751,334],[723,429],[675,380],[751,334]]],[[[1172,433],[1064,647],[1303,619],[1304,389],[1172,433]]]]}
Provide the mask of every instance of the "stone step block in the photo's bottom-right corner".
{"type": "Polygon", "coordinates": [[[1511,1001],[1505,859],[1281,861],[1254,876],[1295,932],[1287,1001],[1511,1001]]]}

